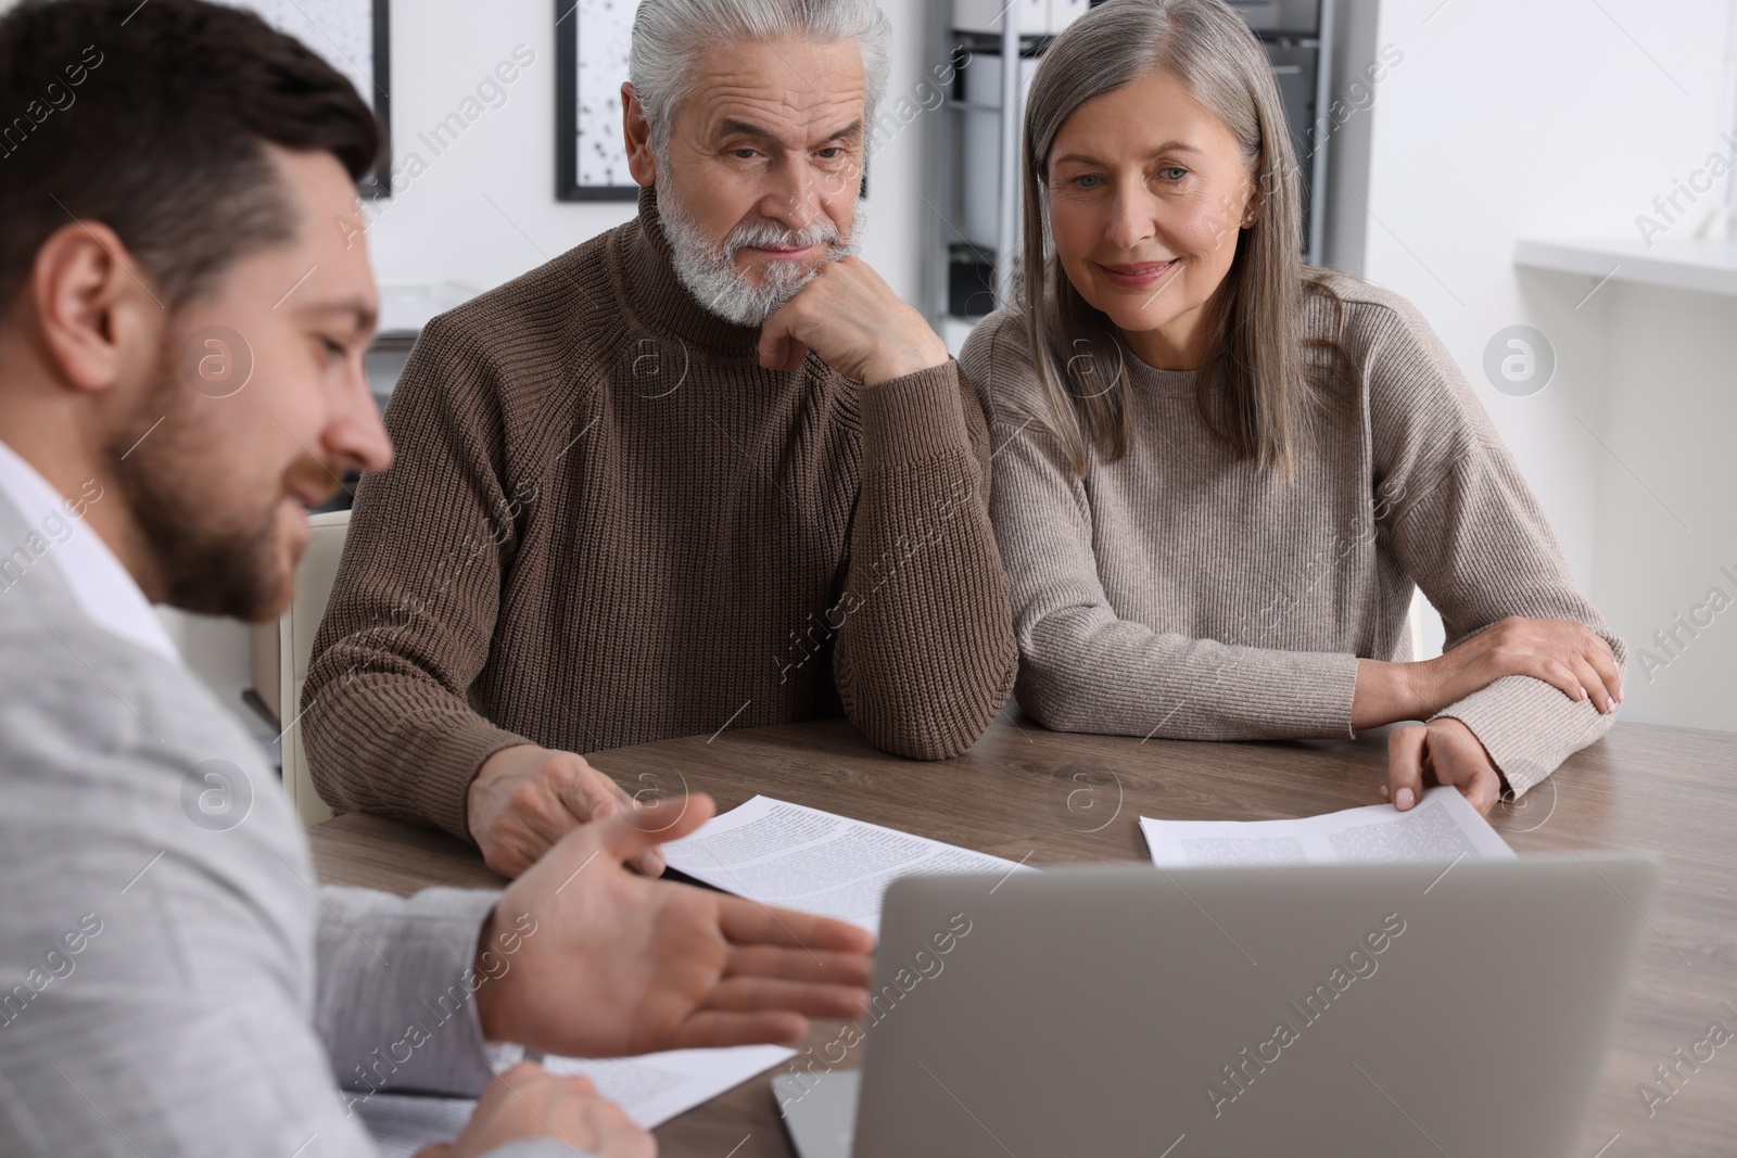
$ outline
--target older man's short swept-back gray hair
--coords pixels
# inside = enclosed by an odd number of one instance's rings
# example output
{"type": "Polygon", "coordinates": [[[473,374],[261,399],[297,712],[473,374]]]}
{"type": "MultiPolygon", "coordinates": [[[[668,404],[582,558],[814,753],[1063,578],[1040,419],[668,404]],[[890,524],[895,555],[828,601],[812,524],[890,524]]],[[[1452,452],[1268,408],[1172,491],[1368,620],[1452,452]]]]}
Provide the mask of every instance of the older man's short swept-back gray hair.
{"type": "Polygon", "coordinates": [[[651,125],[651,148],[662,156],[669,144],[676,109],[693,90],[693,57],[714,43],[778,36],[862,47],[867,135],[891,68],[891,26],[875,0],[641,0],[627,78],[651,125]]]}

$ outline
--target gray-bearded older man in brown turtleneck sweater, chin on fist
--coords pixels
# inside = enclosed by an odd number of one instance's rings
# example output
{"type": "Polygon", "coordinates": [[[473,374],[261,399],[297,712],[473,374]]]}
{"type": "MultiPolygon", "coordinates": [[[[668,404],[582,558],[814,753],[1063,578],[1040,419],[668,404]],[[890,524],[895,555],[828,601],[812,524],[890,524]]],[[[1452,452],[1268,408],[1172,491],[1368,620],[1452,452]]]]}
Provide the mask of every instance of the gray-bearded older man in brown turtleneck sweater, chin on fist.
{"type": "Polygon", "coordinates": [[[328,802],[516,873],[625,800],[582,752],[842,710],[940,759],[1007,701],[981,411],[851,255],[886,40],[639,5],[637,219],[436,318],[387,410],[302,698],[328,802]]]}

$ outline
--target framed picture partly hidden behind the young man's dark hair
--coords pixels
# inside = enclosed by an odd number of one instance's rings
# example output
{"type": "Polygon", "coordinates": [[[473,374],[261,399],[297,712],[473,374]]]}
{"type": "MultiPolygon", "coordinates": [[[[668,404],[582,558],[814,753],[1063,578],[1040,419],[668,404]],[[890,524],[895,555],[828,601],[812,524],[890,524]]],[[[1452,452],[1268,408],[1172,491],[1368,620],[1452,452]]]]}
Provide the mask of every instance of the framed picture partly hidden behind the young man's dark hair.
{"type": "Polygon", "coordinates": [[[228,0],[318,52],[373,104],[386,134],[379,167],[361,181],[370,198],[393,193],[393,38],[389,0],[228,0]]]}

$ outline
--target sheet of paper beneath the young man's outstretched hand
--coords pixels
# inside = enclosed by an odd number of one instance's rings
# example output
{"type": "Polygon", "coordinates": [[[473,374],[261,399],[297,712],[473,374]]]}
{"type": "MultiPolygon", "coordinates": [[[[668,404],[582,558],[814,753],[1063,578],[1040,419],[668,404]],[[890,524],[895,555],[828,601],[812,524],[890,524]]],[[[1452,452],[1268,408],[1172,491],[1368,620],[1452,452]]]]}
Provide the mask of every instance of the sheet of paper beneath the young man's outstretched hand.
{"type": "MultiPolygon", "coordinates": [[[[651,1130],[676,1115],[796,1057],[782,1045],[677,1049],[644,1057],[544,1057],[551,1073],[582,1073],[598,1092],[651,1130]]],[[[467,1097],[373,1094],[356,1104],[382,1158],[410,1158],[429,1142],[459,1137],[476,1102],[467,1097]]]]}

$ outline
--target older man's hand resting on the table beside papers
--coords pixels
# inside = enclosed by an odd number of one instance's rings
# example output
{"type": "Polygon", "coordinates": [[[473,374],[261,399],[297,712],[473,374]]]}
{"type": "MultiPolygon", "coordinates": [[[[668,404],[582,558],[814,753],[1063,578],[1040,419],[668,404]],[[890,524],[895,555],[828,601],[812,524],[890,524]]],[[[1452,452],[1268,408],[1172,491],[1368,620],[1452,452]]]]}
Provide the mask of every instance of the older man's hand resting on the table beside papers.
{"type": "MultiPolygon", "coordinates": [[[[575,825],[632,811],[634,800],[613,780],[571,752],[533,743],[502,748],[471,781],[471,839],[502,877],[518,877],[575,825]]],[[[662,875],[655,847],[634,868],[662,875]]]]}

